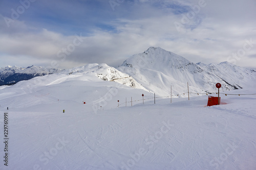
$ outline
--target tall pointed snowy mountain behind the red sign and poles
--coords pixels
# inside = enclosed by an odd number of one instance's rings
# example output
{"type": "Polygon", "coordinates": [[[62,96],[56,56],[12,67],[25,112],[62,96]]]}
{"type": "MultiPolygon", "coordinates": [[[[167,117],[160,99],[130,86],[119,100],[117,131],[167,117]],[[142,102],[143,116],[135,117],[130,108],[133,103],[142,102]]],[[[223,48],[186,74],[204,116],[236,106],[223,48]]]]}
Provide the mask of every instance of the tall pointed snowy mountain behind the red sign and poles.
{"type": "Polygon", "coordinates": [[[187,59],[167,52],[160,47],[150,47],[144,53],[125,60],[118,70],[132,76],[146,89],[158,95],[169,95],[170,85],[174,94],[189,91],[216,92],[216,83],[221,90],[241,89],[255,71],[228,62],[218,65],[193,63],[187,59]]]}

